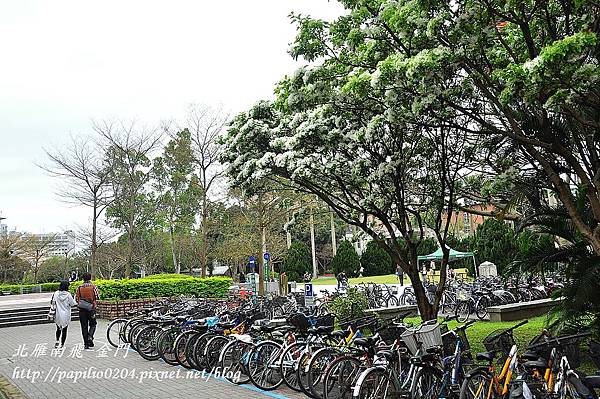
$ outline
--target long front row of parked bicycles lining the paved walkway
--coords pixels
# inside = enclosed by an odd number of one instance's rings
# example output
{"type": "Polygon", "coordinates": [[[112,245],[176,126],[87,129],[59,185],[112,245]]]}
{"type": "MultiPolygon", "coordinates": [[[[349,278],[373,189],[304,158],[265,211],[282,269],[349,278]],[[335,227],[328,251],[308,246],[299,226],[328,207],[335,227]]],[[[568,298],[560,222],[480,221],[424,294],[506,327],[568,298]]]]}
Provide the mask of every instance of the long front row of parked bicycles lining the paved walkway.
{"type": "Polygon", "coordinates": [[[147,360],[318,399],[594,398],[600,388],[600,372],[577,371],[582,347],[600,369],[600,344],[585,332],[561,337],[548,328],[519,351],[513,332],[524,321],[487,336],[486,352],[473,356],[466,331],[474,320],[448,329],[447,321],[412,325],[406,315],[361,317],[337,320],[334,329],[333,314],[270,319],[271,306],[160,303],[113,321],[107,335],[147,360]]]}

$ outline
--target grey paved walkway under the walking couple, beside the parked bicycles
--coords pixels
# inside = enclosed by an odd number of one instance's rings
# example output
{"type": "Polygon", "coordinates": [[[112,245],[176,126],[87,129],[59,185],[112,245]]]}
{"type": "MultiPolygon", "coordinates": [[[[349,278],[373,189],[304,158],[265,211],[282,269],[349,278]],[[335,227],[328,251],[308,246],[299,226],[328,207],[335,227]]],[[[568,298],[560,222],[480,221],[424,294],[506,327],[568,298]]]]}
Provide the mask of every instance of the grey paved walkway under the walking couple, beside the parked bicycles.
{"type": "Polygon", "coordinates": [[[84,351],[79,324],[72,323],[62,354],[52,349],[52,324],[0,329],[0,374],[31,399],[305,397],[287,389],[262,392],[236,386],[161,361],[146,361],[133,350],[115,350],[106,344],[107,325],[99,321],[95,350],[84,351]]]}

